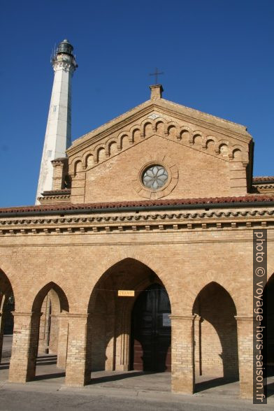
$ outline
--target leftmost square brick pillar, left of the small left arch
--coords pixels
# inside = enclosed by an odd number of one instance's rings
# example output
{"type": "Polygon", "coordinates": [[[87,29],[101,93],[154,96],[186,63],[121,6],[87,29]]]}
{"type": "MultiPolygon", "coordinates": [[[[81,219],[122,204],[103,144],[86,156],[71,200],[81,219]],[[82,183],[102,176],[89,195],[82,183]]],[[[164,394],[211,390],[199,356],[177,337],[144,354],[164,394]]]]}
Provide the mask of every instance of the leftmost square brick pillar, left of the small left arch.
{"type": "Polygon", "coordinates": [[[10,382],[27,382],[35,377],[41,312],[13,312],[13,349],[10,382]]]}

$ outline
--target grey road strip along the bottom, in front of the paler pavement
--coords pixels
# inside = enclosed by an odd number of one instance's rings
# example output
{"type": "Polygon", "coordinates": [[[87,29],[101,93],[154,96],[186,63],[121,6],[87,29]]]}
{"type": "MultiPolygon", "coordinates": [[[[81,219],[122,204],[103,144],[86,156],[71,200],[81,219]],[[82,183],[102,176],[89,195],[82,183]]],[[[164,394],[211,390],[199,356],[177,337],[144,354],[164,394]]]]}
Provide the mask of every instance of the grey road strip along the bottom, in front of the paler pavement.
{"type": "Polygon", "coordinates": [[[115,391],[103,394],[95,391],[80,392],[33,392],[33,391],[0,391],[1,411],[44,411],[44,410],[94,410],[94,411],[250,411],[273,410],[269,405],[252,405],[243,401],[231,401],[222,398],[204,398],[203,396],[174,396],[163,394],[155,396],[129,394],[121,396],[115,391]]]}

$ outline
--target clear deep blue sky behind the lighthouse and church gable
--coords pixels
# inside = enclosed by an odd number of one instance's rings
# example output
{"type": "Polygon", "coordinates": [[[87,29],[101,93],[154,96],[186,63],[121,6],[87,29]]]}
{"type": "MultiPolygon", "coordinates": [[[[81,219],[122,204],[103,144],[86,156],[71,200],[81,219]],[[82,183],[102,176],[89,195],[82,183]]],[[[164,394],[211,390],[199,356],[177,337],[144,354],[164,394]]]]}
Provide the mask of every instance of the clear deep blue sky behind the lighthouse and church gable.
{"type": "Polygon", "coordinates": [[[34,203],[55,43],[69,38],[73,140],[150,97],[245,124],[274,175],[273,0],[0,0],[0,207],[34,203]]]}

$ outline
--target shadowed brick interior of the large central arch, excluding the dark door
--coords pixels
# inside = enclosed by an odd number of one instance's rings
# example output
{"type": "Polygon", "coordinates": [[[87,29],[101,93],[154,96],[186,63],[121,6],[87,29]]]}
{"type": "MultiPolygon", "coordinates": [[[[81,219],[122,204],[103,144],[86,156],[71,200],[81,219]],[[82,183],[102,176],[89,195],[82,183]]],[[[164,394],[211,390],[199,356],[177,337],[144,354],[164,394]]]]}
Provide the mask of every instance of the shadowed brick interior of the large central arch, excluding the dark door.
{"type": "Polygon", "coordinates": [[[114,264],[101,276],[92,291],[88,309],[92,335],[96,336],[92,343],[95,348],[92,349],[92,370],[129,370],[131,312],[140,293],[155,283],[164,287],[150,267],[131,258],[114,264]],[[118,296],[119,290],[134,291],[134,296],[118,296]],[[105,352],[101,352],[100,365],[96,354],[98,339],[101,338],[100,333],[96,332],[98,324],[106,335],[101,345],[105,352]]]}

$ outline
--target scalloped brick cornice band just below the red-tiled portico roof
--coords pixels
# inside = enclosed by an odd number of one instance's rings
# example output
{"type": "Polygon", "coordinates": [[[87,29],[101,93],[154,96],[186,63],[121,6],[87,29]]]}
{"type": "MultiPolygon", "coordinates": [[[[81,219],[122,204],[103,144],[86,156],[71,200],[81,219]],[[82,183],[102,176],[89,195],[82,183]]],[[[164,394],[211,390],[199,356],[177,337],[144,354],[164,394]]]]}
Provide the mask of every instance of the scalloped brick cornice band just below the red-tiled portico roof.
{"type": "Polygon", "coordinates": [[[0,219],[0,235],[254,229],[274,225],[274,208],[0,219]]]}

